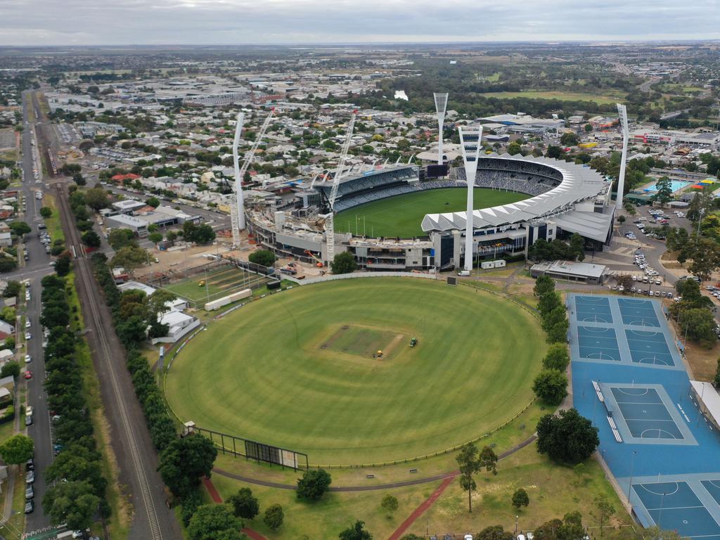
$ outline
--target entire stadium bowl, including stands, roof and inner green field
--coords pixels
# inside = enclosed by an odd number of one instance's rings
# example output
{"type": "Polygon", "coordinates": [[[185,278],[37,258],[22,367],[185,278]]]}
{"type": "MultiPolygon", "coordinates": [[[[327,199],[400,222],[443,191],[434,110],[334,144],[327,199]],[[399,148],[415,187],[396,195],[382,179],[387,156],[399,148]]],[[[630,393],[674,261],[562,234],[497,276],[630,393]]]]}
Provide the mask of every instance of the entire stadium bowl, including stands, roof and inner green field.
{"type": "MultiPolygon", "coordinates": [[[[279,256],[328,263],[324,218],[332,181],[299,184],[272,205],[248,205],[248,230],[279,256]]],[[[521,258],[544,238],[579,233],[596,251],[613,224],[610,184],[588,166],[533,156],[490,154],[474,179],[473,260],[521,258]]],[[[445,179],[395,164],[343,176],[336,198],[335,252],[351,251],[361,269],[444,270],[463,264],[467,179],[445,179]]]]}

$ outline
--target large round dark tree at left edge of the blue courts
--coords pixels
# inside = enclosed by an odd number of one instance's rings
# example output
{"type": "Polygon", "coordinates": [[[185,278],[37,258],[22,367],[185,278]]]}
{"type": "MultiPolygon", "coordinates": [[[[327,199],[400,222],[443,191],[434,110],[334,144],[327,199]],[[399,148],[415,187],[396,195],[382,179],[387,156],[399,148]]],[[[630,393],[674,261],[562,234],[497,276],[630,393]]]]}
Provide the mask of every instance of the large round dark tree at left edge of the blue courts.
{"type": "Polygon", "coordinates": [[[544,415],[536,431],[538,452],[547,454],[555,462],[583,462],[600,444],[598,428],[575,408],[544,415]]]}

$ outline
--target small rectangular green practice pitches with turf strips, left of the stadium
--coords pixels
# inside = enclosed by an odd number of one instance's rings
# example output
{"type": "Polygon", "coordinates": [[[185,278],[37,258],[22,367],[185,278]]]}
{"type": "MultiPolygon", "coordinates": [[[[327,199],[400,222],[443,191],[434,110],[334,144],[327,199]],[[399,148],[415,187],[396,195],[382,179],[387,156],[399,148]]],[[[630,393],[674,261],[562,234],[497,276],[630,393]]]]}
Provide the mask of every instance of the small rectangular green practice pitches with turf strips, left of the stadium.
{"type": "Polygon", "coordinates": [[[204,304],[210,302],[210,300],[217,300],[227,294],[247,287],[254,287],[266,281],[267,279],[257,274],[236,266],[226,265],[166,285],[164,288],[187,300],[204,304]],[[202,282],[204,284],[201,284],[202,282]]]}

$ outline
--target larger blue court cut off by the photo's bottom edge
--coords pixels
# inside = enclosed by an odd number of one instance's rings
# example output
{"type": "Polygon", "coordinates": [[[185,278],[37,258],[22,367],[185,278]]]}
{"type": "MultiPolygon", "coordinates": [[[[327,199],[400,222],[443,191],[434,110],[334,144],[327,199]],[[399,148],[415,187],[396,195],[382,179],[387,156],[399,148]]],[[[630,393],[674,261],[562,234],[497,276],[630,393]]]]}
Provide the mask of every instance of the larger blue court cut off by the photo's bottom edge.
{"type": "Polygon", "coordinates": [[[720,538],[720,525],[703,506],[688,482],[633,484],[632,489],[660,528],[680,536],[720,538]]]}

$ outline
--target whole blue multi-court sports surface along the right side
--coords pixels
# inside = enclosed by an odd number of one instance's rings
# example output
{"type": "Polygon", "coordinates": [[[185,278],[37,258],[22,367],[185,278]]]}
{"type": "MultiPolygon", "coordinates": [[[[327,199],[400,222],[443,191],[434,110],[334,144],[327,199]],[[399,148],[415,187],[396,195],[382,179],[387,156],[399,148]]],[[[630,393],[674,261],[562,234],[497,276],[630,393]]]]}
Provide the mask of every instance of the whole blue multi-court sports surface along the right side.
{"type": "Polygon", "coordinates": [[[621,499],[643,526],[720,540],[720,433],[662,302],[569,294],[567,310],[573,405],[598,428],[621,499]]]}

